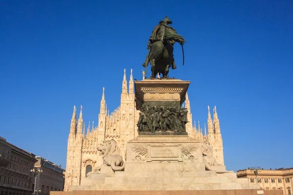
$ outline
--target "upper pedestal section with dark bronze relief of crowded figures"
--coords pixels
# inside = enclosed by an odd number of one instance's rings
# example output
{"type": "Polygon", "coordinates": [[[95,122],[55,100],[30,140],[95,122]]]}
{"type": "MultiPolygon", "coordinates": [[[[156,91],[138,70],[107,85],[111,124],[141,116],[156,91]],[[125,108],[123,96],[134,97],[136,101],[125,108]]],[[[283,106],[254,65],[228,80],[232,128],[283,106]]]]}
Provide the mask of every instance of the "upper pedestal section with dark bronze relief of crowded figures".
{"type": "Polygon", "coordinates": [[[187,136],[187,111],[181,108],[190,81],[145,79],[135,81],[140,136],[187,136]]]}

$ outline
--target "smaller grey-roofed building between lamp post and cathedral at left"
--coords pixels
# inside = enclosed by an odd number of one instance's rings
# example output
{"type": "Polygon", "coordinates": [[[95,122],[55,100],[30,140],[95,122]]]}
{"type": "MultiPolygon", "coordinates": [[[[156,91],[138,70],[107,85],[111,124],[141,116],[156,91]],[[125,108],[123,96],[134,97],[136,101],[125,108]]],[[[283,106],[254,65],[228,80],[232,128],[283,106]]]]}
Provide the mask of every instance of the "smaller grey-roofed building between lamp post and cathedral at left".
{"type": "Polygon", "coordinates": [[[42,172],[36,176],[36,192],[49,195],[51,191],[63,191],[65,170],[41,156],[36,156],[36,159],[35,167],[42,168],[42,172]]]}

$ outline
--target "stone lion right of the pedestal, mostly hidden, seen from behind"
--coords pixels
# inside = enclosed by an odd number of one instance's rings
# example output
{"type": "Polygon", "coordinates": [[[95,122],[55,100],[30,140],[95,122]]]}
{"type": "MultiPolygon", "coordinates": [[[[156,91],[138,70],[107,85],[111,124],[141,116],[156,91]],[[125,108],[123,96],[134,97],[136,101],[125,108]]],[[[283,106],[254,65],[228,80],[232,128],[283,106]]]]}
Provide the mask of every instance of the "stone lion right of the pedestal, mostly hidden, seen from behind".
{"type": "Polygon", "coordinates": [[[209,143],[202,142],[202,153],[203,161],[207,170],[216,171],[218,174],[234,173],[233,171],[227,171],[223,164],[216,161],[216,159],[213,157],[212,148],[210,147],[209,143]]]}

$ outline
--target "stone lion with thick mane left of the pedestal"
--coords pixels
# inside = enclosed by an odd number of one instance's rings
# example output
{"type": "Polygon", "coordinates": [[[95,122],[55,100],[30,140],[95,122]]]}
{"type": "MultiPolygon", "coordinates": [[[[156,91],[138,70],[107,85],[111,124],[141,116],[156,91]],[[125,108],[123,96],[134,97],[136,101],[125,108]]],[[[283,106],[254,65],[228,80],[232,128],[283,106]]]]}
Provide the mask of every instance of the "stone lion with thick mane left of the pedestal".
{"type": "Polygon", "coordinates": [[[114,139],[104,141],[98,146],[99,155],[103,155],[104,164],[111,166],[113,171],[121,171],[125,167],[122,156],[120,156],[120,149],[114,139]]]}

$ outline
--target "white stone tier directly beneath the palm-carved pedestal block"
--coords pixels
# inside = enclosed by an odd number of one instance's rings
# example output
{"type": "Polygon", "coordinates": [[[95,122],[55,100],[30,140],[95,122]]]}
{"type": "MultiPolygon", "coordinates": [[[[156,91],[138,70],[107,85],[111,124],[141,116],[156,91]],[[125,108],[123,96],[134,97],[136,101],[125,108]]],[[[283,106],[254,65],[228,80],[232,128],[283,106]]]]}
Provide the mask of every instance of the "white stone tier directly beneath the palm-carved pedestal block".
{"type": "Polygon", "coordinates": [[[125,172],[205,171],[204,163],[126,163],[125,172]]]}

